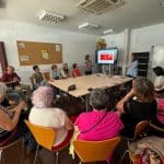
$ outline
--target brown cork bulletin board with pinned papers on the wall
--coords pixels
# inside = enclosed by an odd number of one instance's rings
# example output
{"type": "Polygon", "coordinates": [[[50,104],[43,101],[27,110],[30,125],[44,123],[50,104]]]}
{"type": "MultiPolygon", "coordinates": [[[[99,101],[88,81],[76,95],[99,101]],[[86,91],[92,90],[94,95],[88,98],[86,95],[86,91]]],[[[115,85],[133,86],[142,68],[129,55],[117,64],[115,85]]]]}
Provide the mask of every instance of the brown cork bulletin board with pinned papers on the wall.
{"type": "Polygon", "coordinates": [[[20,66],[62,62],[62,45],[16,40],[20,66]]]}

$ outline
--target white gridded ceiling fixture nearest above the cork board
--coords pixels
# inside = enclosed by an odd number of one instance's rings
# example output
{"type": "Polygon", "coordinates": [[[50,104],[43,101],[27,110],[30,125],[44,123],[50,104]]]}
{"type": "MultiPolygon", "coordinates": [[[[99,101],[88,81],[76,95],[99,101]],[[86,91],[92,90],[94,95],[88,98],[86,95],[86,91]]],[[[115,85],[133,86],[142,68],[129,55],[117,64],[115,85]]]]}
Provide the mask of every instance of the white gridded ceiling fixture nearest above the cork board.
{"type": "Polygon", "coordinates": [[[60,13],[43,10],[38,13],[38,19],[42,21],[49,21],[49,22],[58,23],[59,21],[65,20],[66,16],[60,13]]]}

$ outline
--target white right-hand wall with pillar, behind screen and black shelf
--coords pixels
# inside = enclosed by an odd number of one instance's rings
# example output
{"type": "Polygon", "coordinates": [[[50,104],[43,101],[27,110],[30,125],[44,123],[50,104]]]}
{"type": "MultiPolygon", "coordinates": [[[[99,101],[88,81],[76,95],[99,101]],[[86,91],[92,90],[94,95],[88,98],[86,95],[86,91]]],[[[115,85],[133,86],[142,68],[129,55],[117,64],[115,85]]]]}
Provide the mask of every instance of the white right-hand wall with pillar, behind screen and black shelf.
{"type": "Polygon", "coordinates": [[[119,65],[127,63],[131,52],[150,51],[149,78],[153,79],[152,72],[152,49],[154,45],[164,45],[164,23],[137,30],[124,31],[115,35],[104,36],[107,47],[116,46],[120,49],[119,65]],[[129,36],[129,37],[128,37],[129,36]],[[128,40],[129,38],[129,40],[128,40]],[[127,44],[127,45],[126,45],[127,44]],[[128,51],[128,49],[130,49],[128,51]]]}

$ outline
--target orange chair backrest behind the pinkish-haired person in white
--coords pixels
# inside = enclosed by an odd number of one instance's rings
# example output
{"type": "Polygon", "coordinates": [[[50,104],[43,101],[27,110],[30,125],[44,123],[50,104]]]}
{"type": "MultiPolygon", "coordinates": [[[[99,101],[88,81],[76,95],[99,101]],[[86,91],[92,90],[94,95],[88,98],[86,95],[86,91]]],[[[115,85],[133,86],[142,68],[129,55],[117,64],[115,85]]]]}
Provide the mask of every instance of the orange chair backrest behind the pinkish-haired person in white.
{"type": "Polygon", "coordinates": [[[24,120],[28,129],[31,130],[32,134],[34,136],[37,144],[51,150],[51,147],[56,139],[56,133],[52,128],[46,128],[42,126],[36,126],[31,124],[27,120],[24,120]]]}

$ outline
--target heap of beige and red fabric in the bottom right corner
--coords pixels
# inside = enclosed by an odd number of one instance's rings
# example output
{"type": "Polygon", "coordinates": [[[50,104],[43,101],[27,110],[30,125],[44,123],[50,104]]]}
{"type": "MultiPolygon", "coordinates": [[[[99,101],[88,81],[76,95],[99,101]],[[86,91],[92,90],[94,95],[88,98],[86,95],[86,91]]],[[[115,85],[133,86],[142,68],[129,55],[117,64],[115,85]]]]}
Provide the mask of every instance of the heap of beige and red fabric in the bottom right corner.
{"type": "Polygon", "coordinates": [[[138,164],[164,163],[164,138],[151,136],[130,143],[130,154],[138,164]]]}

